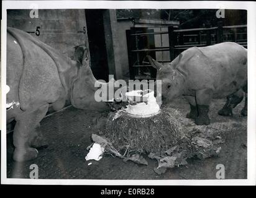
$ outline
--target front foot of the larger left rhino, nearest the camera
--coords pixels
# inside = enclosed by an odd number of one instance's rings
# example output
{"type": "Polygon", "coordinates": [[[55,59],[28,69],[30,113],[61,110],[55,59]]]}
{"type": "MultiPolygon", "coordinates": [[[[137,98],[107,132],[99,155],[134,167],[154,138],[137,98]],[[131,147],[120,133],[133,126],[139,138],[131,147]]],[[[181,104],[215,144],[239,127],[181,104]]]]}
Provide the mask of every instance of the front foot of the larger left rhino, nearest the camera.
{"type": "Polygon", "coordinates": [[[12,156],[14,161],[28,161],[37,158],[38,151],[34,148],[15,149],[12,156]]]}

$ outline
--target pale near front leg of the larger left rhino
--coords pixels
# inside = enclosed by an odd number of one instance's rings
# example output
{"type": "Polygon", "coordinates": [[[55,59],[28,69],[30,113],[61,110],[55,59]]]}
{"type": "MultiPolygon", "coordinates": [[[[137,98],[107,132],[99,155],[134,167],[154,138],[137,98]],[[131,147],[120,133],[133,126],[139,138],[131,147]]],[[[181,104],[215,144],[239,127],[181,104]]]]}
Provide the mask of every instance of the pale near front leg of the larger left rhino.
{"type": "Polygon", "coordinates": [[[16,126],[14,128],[14,155],[15,161],[33,160],[37,157],[37,149],[31,147],[31,137],[35,137],[35,129],[39,126],[48,110],[48,104],[40,106],[35,111],[25,111],[16,118],[16,126]]]}

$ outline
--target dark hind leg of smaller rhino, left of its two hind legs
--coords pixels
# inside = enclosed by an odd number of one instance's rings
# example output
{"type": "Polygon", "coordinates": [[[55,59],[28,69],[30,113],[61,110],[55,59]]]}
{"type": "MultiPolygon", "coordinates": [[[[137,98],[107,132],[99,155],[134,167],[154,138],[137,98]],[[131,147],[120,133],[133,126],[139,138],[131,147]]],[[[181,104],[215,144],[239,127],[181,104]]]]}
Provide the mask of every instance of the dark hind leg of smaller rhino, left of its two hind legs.
{"type": "Polygon", "coordinates": [[[218,114],[221,116],[232,116],[232,109],[235,108],[244,98],[244,93],[242,90],[238,90],[237,92],[229,95],[227,97],[226,104],[223,106],[221,110],[218,111],[218,114]]]}

